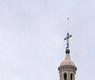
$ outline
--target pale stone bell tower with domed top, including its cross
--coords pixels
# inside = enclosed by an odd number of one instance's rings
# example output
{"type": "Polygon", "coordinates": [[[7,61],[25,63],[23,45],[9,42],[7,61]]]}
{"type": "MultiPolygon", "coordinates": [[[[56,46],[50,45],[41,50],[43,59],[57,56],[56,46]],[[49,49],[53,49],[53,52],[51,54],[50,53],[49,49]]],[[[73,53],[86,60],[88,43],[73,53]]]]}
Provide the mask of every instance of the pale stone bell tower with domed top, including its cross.
{"type": "Polygon", "coordinates": [[[76,66],[70,59],[70,49],[69,49],[69,38],[72,37],[72,35],[69,35],[67,33],[67,37],[64,40],[67,40],[67,47],[66,47],[66,56],[65,60],[62,61],[60,66],[58,67],[60,80],[75,80],[75,74],[76,74],[76,66]]]}

